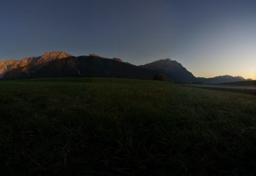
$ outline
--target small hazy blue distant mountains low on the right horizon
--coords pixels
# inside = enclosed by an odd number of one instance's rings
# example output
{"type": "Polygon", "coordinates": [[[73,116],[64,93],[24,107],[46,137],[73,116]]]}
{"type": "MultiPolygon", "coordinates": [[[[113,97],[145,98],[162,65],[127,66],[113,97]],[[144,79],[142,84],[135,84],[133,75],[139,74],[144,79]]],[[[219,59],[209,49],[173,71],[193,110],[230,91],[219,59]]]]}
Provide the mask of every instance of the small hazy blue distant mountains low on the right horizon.
{"type": "Polygon", "coordinates": [[[202,82],[205,84],[220,84],[220,83],[227,83],[227,82],[239,82],[239,81],[245,81],[243,77],[232,77],[230,75],[224,75],[214,78],[197,78],[198,82],[202,82]]]}

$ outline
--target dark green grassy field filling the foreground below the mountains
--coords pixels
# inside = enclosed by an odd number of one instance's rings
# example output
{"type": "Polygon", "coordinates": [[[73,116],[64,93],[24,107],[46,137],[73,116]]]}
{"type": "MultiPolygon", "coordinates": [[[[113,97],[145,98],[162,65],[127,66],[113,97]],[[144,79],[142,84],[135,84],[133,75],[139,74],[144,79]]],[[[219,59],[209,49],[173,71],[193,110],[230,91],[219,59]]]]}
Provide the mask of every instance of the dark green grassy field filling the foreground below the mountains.
{"type": "Polygon", "coordinates": [[[0,82],[0,175],[254,175],[256,96],[118,78],[0,82]]]}

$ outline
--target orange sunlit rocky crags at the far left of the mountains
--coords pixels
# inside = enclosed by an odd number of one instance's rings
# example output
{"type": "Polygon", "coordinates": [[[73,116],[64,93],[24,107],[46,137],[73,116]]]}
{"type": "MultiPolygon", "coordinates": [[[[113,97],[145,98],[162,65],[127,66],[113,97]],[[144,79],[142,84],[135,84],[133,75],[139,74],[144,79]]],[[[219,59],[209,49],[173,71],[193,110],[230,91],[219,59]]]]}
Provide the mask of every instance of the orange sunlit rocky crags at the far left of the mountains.
{"type": "MultiPolygon", "coordinates": [[[[65,57],[70,57],[70,54],[65,52],[45,52],[44,55],[39,57],[25,57],[21,61],[15,59],[9,59],[7,61],[0,61],[0,78],[2,78],[8,71],[20,68],[22,72],[26,74],[31,74],[44,66],[45,64],[63,59],[65,57]]],[[[17,72],[17,71],[16,71],[17,72]]]]}

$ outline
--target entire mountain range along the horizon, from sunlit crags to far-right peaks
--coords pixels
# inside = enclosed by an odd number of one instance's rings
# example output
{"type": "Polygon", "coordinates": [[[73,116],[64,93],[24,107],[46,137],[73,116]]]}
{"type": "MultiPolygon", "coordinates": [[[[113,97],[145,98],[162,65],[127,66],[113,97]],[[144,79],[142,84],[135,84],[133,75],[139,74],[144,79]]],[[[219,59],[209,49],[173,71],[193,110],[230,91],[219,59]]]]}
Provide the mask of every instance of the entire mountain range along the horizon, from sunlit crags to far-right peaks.
{"type": "Polygon", "coordinates": [[[179,83],[200,82],[220,84],[244,81],[243,77],[220,76],[196,78],[182,64],[171,59],[161,59],[141,66],[135,66],[122,59],[108,59],[99,55],[75,57],[66,52],[45,52],[38,57],[22,60],[0,61],[1,79],[49,78],[49,77],[122,77],[152,79],[157,73],[164,73],[168,81],[179,83]]]}

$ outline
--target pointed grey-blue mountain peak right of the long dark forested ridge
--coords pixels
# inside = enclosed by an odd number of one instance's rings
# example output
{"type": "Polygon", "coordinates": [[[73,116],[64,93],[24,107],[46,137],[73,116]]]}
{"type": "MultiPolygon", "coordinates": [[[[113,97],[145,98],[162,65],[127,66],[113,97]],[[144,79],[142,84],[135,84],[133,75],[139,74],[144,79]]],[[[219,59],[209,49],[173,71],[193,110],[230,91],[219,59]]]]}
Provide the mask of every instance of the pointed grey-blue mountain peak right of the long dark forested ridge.
{"type": "Polygon", "coordinates": [[[182,64],[177,61],[172,61],[171,59],[151,62],[140,66],[140,68],[164,73],[168,80],[172,82],[188,83],[197,81],[196,77],[194,77],[191,72],[186,70],[182,64]]]}

